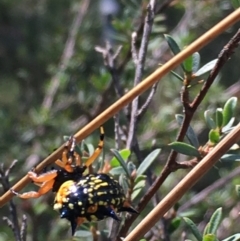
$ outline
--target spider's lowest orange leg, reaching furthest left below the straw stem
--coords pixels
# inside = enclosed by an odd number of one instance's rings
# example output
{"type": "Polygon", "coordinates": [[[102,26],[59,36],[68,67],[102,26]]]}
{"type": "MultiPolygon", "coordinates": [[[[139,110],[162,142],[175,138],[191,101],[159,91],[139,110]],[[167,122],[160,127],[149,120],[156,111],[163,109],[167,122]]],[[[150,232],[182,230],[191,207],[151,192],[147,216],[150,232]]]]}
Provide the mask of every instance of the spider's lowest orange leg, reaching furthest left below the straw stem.
{"type": "Polygon", "coordinates": [[[25,192],[25,193],[20,194],[20,193],[15,192],[12,189],[11,189],[11,191],[15,195],[17,195],[18,197],[23,198],[23,199],[38,198],[38,197],[41,197],[42,195],[44,195],[45,193],[47,193],[48,191],[50,191],[52,189],[54,182],[55,182],[54,179],[44,182],[37,192],[30,191],[30,192],[25,192]]]}

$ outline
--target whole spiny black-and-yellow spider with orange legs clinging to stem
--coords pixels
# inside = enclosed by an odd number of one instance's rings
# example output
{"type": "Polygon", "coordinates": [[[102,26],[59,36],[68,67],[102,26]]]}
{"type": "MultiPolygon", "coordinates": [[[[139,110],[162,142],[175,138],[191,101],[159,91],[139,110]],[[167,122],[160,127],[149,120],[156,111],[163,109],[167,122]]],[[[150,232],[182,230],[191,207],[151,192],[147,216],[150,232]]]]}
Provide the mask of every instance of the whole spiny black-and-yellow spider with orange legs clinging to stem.
{"type": "Polygon", "coordinates": [[[100,141],[92,156],[81,166],[81,158],[75,151],[76,140],[70,137],[64,147],[61,160],[55,163],[60,167],[38,175],[28,172],[29,178],[40,186],[39,190],[25,193],[11,191],[20,198],[38,198],[52,189],[56,193],[53,208],[61,218],[69,220],[74,235],[77,226],[86,221],[99,221],[111,217],[120,218],[116,212],[137,213],[126,200],[125,193],[113,177],[106,173],[84,175],[84,171],[100,155],[104,145],[104,129],[100,127],[100,141]]]}

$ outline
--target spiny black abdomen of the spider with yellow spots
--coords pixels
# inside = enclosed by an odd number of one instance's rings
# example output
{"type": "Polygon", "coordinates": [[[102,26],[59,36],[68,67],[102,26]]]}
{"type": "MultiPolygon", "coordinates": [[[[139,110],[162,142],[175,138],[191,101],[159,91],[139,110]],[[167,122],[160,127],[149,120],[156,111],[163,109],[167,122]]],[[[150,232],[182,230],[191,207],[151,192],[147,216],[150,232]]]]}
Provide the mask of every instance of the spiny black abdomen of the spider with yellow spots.
{"type": "Polygon", "coordinates": [[[116,212],[136,211],[126,202],[122,187],[111,176],[88,174],[77,182],[64,182],[59,188],[54,209],[61,218],[71,222],[74,233],[77,225],[84,221],[98,221],[107,217],[119,220],[116,212]]]}

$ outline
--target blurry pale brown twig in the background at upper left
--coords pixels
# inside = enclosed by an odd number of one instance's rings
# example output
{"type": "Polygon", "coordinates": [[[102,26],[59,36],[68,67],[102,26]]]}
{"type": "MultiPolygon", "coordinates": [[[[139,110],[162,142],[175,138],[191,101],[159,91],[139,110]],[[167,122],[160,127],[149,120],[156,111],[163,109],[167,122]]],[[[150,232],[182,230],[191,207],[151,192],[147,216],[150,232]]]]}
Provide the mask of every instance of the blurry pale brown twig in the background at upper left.
{"type": "Polygon", "coordinates": [[[60,85],[59,80],[59,73],[65,71],[67,64],[69,60],[72,58],[74,54],[74,47],[76,43],[77,33],[79,31],[80,25],[82,23],[83,17],[87,13],[87,9],[89,6],[90,0],[82,1],[80,4],[79,11],[77,13],[77,16],[73,20],[72,26],[70,28],[69,36],[66,41],[59,65],[58,65],[58,73],[53,76],[53,78],[50,81],[49,88],[47,89],[47,94],[44,97],[42,108],[49,111],[52,107],[53,99],[57,93],[57,90],[60,85]]]}

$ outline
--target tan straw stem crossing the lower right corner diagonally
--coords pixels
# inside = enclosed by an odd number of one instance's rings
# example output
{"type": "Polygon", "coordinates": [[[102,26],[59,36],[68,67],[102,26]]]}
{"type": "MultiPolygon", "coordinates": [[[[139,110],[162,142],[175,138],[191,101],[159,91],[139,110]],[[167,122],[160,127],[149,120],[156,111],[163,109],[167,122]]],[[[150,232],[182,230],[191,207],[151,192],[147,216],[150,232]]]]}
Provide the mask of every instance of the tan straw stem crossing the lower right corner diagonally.
{"type": "Polygon", "coordinates": [[[238,124],[201,162],[196,165],[180,181],[168,195],[137,225],[124,241],[138,241],[146,234],[160,218],[177,203],[231,146],[240,140],[240,124],[238,124]]]}

